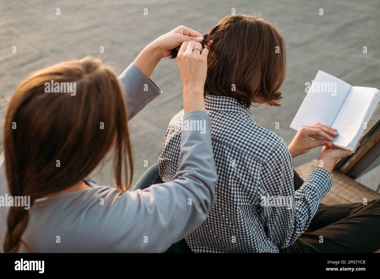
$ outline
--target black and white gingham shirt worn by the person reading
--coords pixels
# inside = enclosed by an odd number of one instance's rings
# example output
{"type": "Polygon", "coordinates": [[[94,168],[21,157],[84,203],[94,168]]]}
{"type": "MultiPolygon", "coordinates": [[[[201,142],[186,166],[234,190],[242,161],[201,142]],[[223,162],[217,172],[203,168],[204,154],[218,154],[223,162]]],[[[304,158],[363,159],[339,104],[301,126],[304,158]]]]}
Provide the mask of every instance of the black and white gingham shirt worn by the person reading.
{"type": "MultiPolygon", "coordinates": [[[[293,159],[283,139],[256,125],[236,99],[206,95],[205,103],[218,173],[216,201],[186,241],[193,252],[279,252],[307,229],[332,186],[331,176],[316,167],[294,192],[293,159]],[[269,202],[277,198],[291,206],[269,202]]],[[[183,110],[175,115],[165,134],[164,181],[177,171],[183,116],[183,110]]]]}

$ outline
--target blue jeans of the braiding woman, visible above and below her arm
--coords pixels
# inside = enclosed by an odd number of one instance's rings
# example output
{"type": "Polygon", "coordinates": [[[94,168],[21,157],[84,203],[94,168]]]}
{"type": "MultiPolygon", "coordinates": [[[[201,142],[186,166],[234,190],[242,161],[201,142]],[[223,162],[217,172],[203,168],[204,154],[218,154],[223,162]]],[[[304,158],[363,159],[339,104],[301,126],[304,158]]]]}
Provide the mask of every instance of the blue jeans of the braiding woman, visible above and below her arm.
{"type": "MultiPolygon", "coordinates": [[[[142,177],[136,182],[131,191],[137,189],[146,189],[153,184],[163,183],[160,174],[158,173],[158,163],[149,167],[149,169],[144,172],[142,177]]],[[[165,253],[192,253],[190,247],[187,245],[185,239],[172,244],[165,253]]]]}

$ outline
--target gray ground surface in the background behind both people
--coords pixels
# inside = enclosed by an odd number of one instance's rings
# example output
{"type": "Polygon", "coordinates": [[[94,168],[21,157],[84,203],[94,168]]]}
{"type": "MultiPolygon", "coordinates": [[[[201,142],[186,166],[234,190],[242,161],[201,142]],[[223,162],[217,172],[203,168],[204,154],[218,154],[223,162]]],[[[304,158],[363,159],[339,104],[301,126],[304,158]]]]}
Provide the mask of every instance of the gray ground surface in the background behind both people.
{"type": "MultiPolygon", "coordinates": [[[[71,58],[102,58],[119,74],[140,50],[177,25],[206,32],[222,17],[261,12],[276,22],[285,37],[288,73],[282,86],[281,108],[253,108],[256,122],[290,143],[295,131],[288,128],[319,69],[353,85],[380,87],[380,2],[335,1],[46,1],[0,2],[0,148],[6,106],[16,85],[31,71],[71,58]],[[60,8],[60,16],[55,15],[60,8]],[[143,9],[148,15],[143,15],[143,9]],[[323,16],[318,15],[323,8],[323,16]],[[12,47],[17,53],[12,53],[12,47]],[[100,46],[105,53],[100,54],[100,46]],[[363,46],[368,53],[363,54],[363,46]],[[275,123],[280,129],[275,130],[275,123]]],[[[171,117],[182,109],[182,86],[175,61],[163,59],[152,75],[163,95],[131,121],[135,156],[135,181],[158,161],[163,136],[171,117]]],[[[378,114],[377,114],[378,115],[378,114]]],[[[317,158],[315,149],[299,158],[296,166],[317,158]]],[[[95,179],[112,183],[105,164],[95,179]]]]}

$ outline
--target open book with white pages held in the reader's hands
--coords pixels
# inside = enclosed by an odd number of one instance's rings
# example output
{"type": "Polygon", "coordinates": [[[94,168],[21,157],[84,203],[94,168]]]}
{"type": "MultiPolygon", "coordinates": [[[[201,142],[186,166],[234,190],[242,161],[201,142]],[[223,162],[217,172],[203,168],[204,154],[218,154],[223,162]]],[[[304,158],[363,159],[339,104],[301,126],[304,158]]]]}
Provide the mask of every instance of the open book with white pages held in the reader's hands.
{"type": "MultiPolygon", "coordinates": [[[[351,86],[323,71],[309,84],[308,93],[290,128],[317,122],[337,129],[332,144],[355,152],[380,103],[377,88],[351,86]]],[[[306,87],[306,89],[307,89],[306,87]]]]}

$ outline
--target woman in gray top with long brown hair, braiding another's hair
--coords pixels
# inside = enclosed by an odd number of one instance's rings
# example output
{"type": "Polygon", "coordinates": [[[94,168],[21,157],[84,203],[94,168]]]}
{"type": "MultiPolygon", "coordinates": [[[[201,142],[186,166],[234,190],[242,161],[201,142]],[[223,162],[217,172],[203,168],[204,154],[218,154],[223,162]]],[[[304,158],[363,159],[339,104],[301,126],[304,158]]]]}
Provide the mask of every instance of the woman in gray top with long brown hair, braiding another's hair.
{"type": "Polygon", "coordinates": [[[8,189],[0,183],[0,192],[30,197],[30,210],[9,207],[4,252],[163,252],[206,219],[217,176],[203,99],[208,51],[200,35],[179,26],[160,36],[119,78],[100,60],[83,58],[41,69],[17,87],[5,120],[8,189]],[[173,181],[128,191],[127,121],[161,94],[149,76],[179,45],[184,119],[206,121],[206,133],[184,131],[173,181]],[[116,188],[86,179],[112,149],[116,188]]]}

